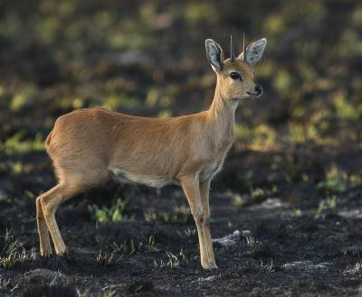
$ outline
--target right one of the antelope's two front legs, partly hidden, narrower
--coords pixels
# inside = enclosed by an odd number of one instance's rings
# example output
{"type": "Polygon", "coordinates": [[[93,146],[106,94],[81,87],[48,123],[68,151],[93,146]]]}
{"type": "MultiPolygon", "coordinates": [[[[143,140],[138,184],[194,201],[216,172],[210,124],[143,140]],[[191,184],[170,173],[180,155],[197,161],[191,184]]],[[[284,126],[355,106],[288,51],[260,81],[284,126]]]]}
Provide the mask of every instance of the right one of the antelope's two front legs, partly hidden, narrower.
{"type": "Polygon", "coordinates": [[[214,250],[213,250],[213,242],[211,240],[210,234],[210,207],[209,207],[209,191],[210,191],[210,179],[203,181],[200,183],[200,197],[201,202],[204,209],[204,221],[203,221],[203,229],[205,236],[205,246],[206,252],[209,258],[209,263],[211,268],[217,268],[217,265],[214,260],[214,250]]]}

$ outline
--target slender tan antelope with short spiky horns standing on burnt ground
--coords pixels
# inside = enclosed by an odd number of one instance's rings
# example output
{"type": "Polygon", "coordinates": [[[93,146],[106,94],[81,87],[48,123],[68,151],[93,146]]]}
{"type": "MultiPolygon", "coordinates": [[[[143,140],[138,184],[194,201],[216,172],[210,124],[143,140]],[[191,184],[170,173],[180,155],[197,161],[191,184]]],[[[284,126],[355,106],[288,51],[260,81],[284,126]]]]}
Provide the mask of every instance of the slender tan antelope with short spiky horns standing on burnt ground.
{"type": "Polygon", "coordinates": [[[41,255],[52,255],[49,233],[56,255],[67,254],[55,220],[60,204],[113,176],[151,187],[180,186],[195,219],[201,265],[217,268],[209,227],[210,182],[233,144],[238,102],[262,95],[252,66],[262,59],[266,42],[262,38],[246,47],[243,38],[243,52],[236,57],[231,37],[231,57],[225,60],[221,46],[205,40],[206,56],[217,78],[206,111],[150,118],[84,108],[60,116],[45,141],[58,184],[36,199],[41,255]]]}

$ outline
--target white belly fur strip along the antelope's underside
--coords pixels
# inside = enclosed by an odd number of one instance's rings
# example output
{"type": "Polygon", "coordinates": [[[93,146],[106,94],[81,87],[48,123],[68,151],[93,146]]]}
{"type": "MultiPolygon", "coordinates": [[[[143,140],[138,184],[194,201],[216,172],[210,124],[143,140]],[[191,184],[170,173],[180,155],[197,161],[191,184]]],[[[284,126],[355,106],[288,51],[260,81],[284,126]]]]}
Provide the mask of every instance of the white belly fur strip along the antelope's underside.
{"type": "Polygon", "coordinates": [[[162,188],[167,184],[172,184],[174,181],[168,180],[163,177],[147,174],[134,174],[125,172],[117,167],[110,167],[110,172],[121,182],[136,182],[145,184],[149,187],[162,188]]]}

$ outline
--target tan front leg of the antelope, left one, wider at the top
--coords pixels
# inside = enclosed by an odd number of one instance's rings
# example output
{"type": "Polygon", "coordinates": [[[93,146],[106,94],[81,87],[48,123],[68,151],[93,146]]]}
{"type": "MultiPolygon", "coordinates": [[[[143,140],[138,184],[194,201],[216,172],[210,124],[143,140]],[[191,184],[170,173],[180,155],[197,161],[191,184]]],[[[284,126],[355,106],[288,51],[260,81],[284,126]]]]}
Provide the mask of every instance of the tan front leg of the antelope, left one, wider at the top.
{"type": "Polygon", "coordinates": [[[188,200],[188,204],[190,205],[191,213],[195,219],[198,242],[200,246],[201,265],[204,269],[211,269],[213,267],[209,263],[209,257],[207,255],[207,250],[205,246],[204,229],[202,225],[204,211],[200,198],[198,177],[195,175],[185,176],[180,179],[180,181],[182,189],[184,190],[186,198],[188,200]]]}

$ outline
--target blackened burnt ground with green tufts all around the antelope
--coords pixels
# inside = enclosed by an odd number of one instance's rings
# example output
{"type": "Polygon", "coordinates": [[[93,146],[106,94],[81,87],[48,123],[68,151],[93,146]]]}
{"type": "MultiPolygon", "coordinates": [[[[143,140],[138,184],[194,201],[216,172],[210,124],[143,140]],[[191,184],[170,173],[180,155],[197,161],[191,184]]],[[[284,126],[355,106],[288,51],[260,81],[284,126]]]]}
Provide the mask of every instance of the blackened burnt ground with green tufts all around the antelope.
{"type": "Polygon", "coordinates": [[[361,32],[359,1],[3,1],[0,296],[361,295],[361,32]],[[70,254],[41,258],[35,199],[56,182],[43,148],[55,119],[205,109],[205,38],[228,56],[241,30],[268,38],[264,94],[240,103],[212,183],[219,268],[201,268],[180,189],[111,180],[61,206],[70,254]]]}

